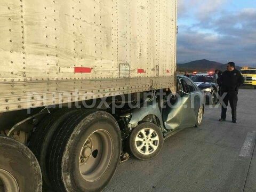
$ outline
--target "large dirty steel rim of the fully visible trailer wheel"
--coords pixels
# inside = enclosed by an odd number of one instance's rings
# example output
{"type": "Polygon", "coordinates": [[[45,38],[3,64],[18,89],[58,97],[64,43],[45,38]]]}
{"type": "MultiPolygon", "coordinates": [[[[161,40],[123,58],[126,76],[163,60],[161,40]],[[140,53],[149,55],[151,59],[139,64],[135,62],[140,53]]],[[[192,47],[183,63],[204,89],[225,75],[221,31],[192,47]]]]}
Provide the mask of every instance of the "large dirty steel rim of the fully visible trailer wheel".
{"type": "Polygon", "coordinates": [[[102,177],[113,156],[113,139],[106,130],[93,132],[86,139],[79,157],[79,171],[84,180],[93,182],[102,177]]]}

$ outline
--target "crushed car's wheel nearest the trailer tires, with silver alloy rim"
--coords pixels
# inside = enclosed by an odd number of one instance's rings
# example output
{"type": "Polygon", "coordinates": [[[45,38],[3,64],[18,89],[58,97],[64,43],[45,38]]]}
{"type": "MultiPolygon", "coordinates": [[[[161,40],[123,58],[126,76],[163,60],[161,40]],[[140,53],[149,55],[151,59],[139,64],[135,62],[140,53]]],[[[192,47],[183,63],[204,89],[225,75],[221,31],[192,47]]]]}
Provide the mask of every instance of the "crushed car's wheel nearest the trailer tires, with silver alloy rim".
{"type": "Polygon", "coordinates": [[[137,127],[135,127],[132,130],[132,133],[129,137],[129,149],[131,154],[134,157],[141,160],[148,160],[156,157],[160,153],[161,149],[163,148],[163,143],[164,143],[164,137],[160,128],[157,125],[153,123],[148,123],[148,122],[141,123],[137,127]],[[154,130],[154,132],[150,134],[149,129],[154,130]],[[143,134],[143,132],[145,134],[143,134]],[[153,140],[151,141],[152,137],[156,135],[158,136],[158,141],[157,142],[153,140]],[[135,141],[137,138],[138,139],[141,138],[143,139],[143,141],[135,141]],[[142,147],[142,148],[139,150],[137,149],[137,147],[138,148],[142,147]],[[153,147],[156,147],[156,149],[154,149],[153,147]],[[149,153],[147,153],[146,151],[147,149],[149,153]]]}

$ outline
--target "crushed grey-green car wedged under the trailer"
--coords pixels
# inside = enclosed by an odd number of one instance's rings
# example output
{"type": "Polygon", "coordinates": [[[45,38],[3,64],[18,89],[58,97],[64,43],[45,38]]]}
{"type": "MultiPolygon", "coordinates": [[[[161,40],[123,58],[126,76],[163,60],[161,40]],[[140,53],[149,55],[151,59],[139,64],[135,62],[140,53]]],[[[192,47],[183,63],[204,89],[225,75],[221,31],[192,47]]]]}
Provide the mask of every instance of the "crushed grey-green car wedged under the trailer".
{"type": "Polygon", "coordinates": [[[128,151],[138,159],[155,157],[161,151],[164,139],[202,123],[205,93],[188,77],[177,76],[176,94],[159,95],[150,95],[139,108],[123,115],[127,122],[126,135],[129,135],[126,138],[128,151]]]}

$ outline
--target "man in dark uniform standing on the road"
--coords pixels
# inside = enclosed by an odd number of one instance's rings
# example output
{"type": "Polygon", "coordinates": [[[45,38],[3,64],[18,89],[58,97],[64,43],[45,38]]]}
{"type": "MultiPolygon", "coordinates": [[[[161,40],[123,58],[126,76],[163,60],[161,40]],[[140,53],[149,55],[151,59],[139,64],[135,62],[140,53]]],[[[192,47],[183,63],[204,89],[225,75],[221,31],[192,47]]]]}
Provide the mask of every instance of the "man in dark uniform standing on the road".
{"type": "Polygon", "coordinates": [[[235,69],[235,63],[229,62],[227,64],[227,70],[219,76],[219,82],[221,85],[221,94],[225,94],[221,106],[221,118],[219,121],[226,121],[226,113],[228,101],[231,107],[232,122],[237,123],[236,120],[236,106],[237,106],[237,94],[238,87],[244,83],[243,75],[240,71],[235,69]]]}

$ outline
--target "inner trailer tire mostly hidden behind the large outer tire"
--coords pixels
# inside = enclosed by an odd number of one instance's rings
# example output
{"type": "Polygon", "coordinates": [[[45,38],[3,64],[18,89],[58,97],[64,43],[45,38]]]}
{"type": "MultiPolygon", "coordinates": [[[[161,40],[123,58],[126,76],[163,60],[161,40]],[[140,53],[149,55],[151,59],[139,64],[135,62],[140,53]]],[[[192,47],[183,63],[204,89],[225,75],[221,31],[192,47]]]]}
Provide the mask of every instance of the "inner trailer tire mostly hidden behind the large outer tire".
{"type": "Polygon", "coordinates": [[[51,188],[51,182],[46,173],[46,155],[50,141],[58,126],[77,109],[58,109],[52,114],[48,114],[41,123],[38,124],[29,142],[30,150],[35,154],[41,166],[44,186],[51,188]]]}

